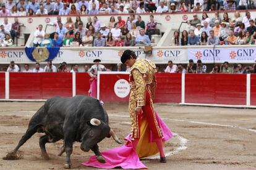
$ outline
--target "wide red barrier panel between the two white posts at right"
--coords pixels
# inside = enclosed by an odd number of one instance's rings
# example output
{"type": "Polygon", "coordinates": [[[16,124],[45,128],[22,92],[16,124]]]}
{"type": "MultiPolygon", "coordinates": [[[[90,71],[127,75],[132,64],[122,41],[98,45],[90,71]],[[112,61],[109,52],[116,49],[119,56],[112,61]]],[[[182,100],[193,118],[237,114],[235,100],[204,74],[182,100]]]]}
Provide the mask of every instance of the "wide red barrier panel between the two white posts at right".
{"type": "Polygon", "coordinates": [[[246,75],[185,76],[185,102],[246,105],[246,75]]]}

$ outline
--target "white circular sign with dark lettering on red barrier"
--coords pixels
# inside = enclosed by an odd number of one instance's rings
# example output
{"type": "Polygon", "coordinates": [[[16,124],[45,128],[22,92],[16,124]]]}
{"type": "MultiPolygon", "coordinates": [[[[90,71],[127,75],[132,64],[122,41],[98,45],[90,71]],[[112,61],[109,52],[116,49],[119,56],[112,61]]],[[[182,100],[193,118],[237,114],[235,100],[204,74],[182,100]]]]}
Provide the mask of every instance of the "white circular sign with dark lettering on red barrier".
{"type": "Polygon", "coordinates": [[[130,84],[126,79],[119,79],[114,84],[114,93],[117,97],[124,98],[130,93],[130,84]]]}

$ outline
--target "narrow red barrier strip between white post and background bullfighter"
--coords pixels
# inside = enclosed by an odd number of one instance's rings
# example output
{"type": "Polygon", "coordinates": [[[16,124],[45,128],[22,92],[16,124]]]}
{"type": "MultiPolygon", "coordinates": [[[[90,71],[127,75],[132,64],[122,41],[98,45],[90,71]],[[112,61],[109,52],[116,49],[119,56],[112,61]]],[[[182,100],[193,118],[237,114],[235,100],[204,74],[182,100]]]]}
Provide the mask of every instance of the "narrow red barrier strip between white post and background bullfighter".
{"type": "Polygon", "coordinates": [[[88,73],[75,73],[76,94],[88,95],[90,89],[88,73]]]}

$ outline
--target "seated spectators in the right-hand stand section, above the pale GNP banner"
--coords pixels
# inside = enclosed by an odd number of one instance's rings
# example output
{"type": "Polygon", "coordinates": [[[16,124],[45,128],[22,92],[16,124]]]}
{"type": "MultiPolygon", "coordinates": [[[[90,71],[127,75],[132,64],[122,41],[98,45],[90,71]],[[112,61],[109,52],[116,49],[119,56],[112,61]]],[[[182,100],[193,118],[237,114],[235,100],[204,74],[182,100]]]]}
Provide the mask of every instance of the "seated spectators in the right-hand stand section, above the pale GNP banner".
{"type": "Polygon", "coordinates": [[[198,18],[197,14],[193,17],[181,36],[174,31],[172,46],[255,44],[255,18],[248,11],[244,17],[238,11],[233,18],[227,12],[221,17],[218,11],[213,18],[208,17],[206,12],[203,12],[202,18],[198,18]]]}

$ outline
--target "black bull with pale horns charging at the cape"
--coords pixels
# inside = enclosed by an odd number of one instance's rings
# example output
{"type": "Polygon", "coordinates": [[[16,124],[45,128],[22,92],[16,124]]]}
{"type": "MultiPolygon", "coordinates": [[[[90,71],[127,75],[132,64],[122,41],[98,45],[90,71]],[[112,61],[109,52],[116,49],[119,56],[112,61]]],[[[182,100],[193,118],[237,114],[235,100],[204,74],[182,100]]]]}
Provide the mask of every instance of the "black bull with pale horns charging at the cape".
{"type": "Polygon", "coordinates": [[[60,156],[66,152],[64,168],[70,168],[70,155],[75,141],[82,142],[80,148],[84,152],[91,149],[101,163],[105,163],[105,159],[98,150],[98,142],[112,136],[117,143],[122,144],[109,127],[108,115],[99,100],[84,95],[47,100],[30,119],[27,132],[17,147],[4,159],[14,159],[19,148],[36,132],[45,133],[40,137],[39,145],[46,160],[49,156],[45,144],[64,139],[64,147],[59,153],[60,156]]]}

